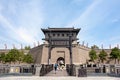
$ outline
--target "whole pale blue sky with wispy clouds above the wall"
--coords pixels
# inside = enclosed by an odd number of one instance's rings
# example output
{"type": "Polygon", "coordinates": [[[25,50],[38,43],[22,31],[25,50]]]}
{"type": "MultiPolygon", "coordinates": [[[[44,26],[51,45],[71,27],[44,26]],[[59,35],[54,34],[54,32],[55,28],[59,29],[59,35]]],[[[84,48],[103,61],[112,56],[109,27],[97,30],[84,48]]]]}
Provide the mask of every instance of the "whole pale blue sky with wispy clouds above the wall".
{"type": "Polygon", "coordinates": [[[41,28],[81,28],[82,41],[108,48],[120,44],[120,0],[0,0],[0,48],[31,45],[41,28]]]}

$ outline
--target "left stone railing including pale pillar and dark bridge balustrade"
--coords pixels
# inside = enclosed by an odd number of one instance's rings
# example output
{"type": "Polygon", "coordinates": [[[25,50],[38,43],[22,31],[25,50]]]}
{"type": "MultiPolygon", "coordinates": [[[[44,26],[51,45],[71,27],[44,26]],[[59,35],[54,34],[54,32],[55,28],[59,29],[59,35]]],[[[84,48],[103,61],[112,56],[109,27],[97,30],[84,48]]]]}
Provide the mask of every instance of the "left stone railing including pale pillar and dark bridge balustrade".
{"type": "Polygon", "coordinates": [[[0,64],[2,75],[36,75],[44,76],[53,70],[53,65],[44,64],[0,64]]]}

